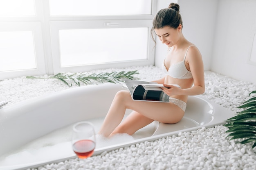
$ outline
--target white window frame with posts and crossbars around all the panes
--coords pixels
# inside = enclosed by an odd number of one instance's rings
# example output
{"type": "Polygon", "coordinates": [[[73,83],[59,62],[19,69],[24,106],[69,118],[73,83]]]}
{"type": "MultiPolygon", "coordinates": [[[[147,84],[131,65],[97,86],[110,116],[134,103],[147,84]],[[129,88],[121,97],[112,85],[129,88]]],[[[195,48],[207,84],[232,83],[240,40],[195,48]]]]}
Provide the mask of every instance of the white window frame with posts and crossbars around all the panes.
{"type": "MultiPolygon", "coordinates": [[[[15,70],[0,72],[0,80],[5,78],[14,78],[26,75],[43,75],[57,74],[58,72],[84,72],[94,69],[103,68],[123,68],[128,66],[153,65],[155,63],[155,44],[151,40],[150,29],[152,19],[157,10],[157,0],[152,1],[151,15],[108,15],[108,16],[50,16],[49,0],[34,0],[36,16],[22,17],[0,17],[0,25],[6,25],[5,30],[22,31],[33,30],[35,53],[36,53],[36,69],[15,70]],[[84,23],[116,23],[119,26],[108,26],[108,28],[129,28],[128,23],[136,23],[134,27],[148,27],[148,59],[143,61],[121,61],[106,64],[92,64],[74,67],[60,68],[60,60],[58,60],[59,44],[58,29],[65,29],[70,23],[75,29],[85,29],[84,23]],[[22,27],[23,26],[23,27],[22,27]],[[127,26],[127,27],[124,27],[127,26]],[[57,56],[57,57],[56,57],[57,56]]],[[[102,25],[94,28],[104,28],[102,25]]],[[[105,27],[106,28],[106,27],[105,27]]],[[[4,30],[0,28],[0,31],[4,30]]]]}

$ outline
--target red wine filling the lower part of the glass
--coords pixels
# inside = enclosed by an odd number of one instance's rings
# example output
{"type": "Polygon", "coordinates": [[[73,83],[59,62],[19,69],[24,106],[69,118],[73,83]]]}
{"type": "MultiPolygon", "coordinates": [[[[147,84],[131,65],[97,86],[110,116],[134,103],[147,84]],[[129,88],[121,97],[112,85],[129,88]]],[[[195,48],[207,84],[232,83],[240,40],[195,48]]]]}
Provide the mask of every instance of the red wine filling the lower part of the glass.
{"type": "Polygon", "coordinates": [[[79,140],[73,144],[74,153],[80,159],[85,159],[92,156],[95,149],[95,142],[89,139],[79,140]]]}

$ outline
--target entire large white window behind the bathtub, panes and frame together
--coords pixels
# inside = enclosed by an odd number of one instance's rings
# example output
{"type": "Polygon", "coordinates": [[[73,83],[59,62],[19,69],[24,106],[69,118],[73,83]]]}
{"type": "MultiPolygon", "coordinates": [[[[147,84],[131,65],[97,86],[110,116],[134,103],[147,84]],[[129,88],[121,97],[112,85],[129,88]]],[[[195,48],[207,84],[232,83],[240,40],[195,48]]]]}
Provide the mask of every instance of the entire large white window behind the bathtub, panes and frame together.
{"type": "Polygon", "coordinates": [[[0,79],[152,65],[155,4],[0,0],[0,79]]]}

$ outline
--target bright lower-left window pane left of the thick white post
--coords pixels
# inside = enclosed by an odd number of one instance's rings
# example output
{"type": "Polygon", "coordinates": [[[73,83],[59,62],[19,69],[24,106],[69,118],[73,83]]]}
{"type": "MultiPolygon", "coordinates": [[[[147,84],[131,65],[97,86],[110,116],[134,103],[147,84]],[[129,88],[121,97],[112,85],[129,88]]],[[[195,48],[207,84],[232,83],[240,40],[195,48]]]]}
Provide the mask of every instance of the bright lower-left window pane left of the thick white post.
{"type": "Polygon", "coordinates": [[[35,69],[33,32],[0,32],[0,56],[0,71],[35,69]]]}

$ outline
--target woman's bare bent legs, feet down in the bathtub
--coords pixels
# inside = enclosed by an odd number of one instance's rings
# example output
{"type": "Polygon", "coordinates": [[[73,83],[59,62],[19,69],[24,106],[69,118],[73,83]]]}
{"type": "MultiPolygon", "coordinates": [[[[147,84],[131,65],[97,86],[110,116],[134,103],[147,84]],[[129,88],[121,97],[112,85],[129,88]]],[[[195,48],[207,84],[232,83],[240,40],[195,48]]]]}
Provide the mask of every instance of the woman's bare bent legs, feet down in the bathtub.
{"type": "Polygon", "coordinates": [[[163,123],[177,123],[183,116],[184,111],[173,103],[134,101],[130,97],[130,93],[128,91],[119,91],[112,101],[99,134],[103,134],[106,137],[108,137],[112,132],[131,134],[141,127],[146,126],[153,120],[163,123]],[[127,121],[124,121],[124,123],[117,128],[121,120],[124,118],[126,109],[132,109],[137,113],[129,116],[130,118],[127,121]],[[133,123],[133,121],[139,118],[138,113],[143,115],[143,117],[140,117],[143,118],[143,122],[141,122],[141,124],[139,124],[139,121],[137,121],[137,123],[133,123]],[[131,130],[127,130],[126,128],[131,128],[131,130]]]}

